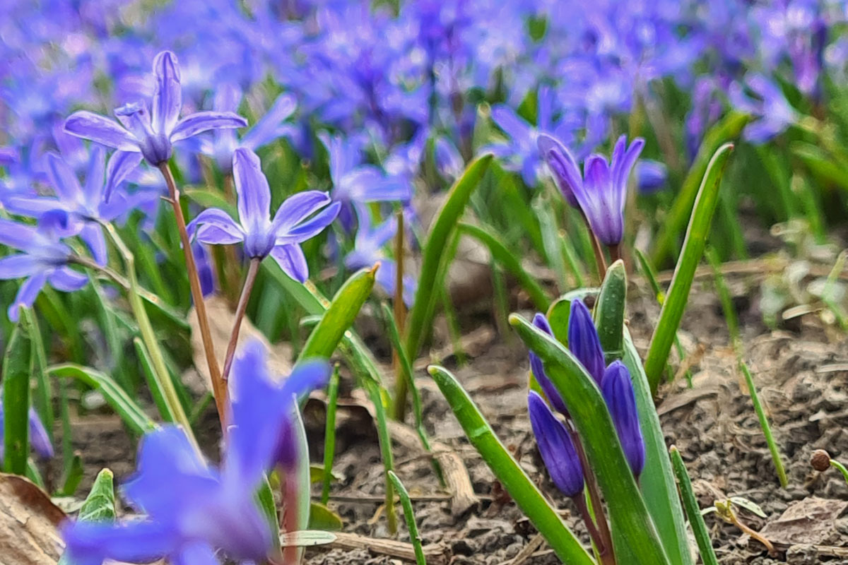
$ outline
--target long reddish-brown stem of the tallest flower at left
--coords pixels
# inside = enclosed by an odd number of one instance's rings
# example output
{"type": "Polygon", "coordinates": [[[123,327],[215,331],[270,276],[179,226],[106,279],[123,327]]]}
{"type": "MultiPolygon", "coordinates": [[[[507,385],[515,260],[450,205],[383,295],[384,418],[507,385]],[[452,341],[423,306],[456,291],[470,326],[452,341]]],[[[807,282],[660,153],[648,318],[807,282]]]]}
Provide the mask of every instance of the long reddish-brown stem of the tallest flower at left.
{"type": "Polygon", "coordinates": [[[215,407],[218,409],[218,418],[220,419],[221,429],[226,429],[226,383],[220,376],[218,361],[215,358],[215,344],[212,342],[212,332],[209,330],[209,318],[206,315],[206,304],[204,302],[204,293],[200,288],[200,277],[198,276],[198,267],[194,263],[194,253],[192,253],[192,242],[188,239],[188,231],[186,230],[186,219],[182,216],[182,208],[180,207],[180,191],[176,188],[174,175],[171,174],[168,163],[159,163],[159,171],[165,177],[165,184],[168,185],[169,202],[174,208],[174,217],[176,219],[176,227],[180,232],[180,241],[182,243],[182,252],[186,256],[186,269],[188,271],[188,284],[192,290],[192,299],[194,300],[195,313],[198,316],[198,326],[200,326],[200,336],[204,342],[204,353],[206,355],[206,364],[209,366],[209,377],[212,380],[212,391],[215,396],[215,407]]]}

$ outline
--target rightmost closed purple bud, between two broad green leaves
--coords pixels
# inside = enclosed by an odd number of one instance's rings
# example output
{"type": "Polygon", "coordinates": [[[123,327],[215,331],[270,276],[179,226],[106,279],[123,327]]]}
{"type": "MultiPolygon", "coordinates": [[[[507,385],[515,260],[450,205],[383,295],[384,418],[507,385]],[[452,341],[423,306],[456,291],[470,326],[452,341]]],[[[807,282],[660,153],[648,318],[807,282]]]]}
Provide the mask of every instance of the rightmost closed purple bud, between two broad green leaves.
{"type": "Polygon", "coordinates": [[[601,391],[606,407],[610,410],[612,423],[616,426],[618,440],[622,442],[624,456],[633,474],[639,478],[644,468],[644,438],[639,426],[633,382],[624,363],[614,361],[606,368],[601,391]]]}

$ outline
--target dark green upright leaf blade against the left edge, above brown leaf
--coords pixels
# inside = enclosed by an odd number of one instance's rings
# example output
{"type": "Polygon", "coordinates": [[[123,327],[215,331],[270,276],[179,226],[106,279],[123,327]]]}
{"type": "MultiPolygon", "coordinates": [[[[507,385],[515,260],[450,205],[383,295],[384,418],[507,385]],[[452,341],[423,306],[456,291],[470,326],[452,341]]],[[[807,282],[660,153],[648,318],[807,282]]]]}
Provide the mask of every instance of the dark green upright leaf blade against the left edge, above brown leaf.
{"type": "Polygon", "coordinates": [[[3,470],[6,473],[26,474],[32,366],[30,335],[23,324],[18,324],[3,354],[3,470]]]}

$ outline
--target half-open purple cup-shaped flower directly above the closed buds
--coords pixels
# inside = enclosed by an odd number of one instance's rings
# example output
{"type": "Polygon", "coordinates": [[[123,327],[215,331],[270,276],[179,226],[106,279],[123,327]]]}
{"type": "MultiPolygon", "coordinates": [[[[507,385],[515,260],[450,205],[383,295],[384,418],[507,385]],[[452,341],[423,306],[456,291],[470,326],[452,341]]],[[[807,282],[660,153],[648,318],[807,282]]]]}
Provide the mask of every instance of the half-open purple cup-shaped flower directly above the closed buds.
{"type": "Polygon", "coordinates": [[[548,136],[539,136],[538,144],[566,200],[572,203],[568,196],[571,194],[594,235],[607,246],[621,243],[628,177],[642,152],[644,139],[638,137],[627,147],[627,136],[619,137],[611,163],[604,156],[593,153],[583,163],[583,175],[561,143],[548,136]]]}

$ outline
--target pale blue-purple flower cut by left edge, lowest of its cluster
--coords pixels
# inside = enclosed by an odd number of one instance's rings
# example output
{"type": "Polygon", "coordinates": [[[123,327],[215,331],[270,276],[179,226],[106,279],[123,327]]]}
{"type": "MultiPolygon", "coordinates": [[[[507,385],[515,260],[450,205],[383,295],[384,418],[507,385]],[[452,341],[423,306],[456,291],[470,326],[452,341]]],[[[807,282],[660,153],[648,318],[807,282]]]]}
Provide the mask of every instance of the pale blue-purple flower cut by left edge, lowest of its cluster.
{"type": "Polygon", "coordinates": [[[8,318],[13,322],[19,319],[20,307],[32,307],[45,283],[72,292],[88,282],[85,274],[70,269],[70,247],[59,242],[68,223],[68,214],[59,210],[43,214],[37,227],[0,219],[0,244],[23,252],[0,258],[0,280],[26,278],[8,307],[8,318]]]}

